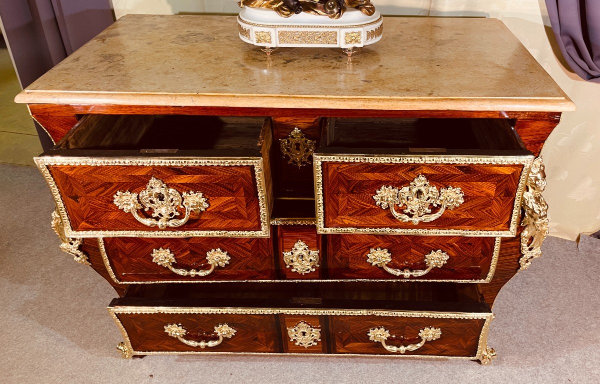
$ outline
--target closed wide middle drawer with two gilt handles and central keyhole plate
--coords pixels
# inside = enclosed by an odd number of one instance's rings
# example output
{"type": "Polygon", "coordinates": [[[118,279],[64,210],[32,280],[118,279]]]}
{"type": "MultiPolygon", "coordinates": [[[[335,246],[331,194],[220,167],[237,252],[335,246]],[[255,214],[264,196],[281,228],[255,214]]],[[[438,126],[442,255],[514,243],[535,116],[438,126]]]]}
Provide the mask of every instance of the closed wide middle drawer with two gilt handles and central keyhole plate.
{"type": "Polygon", "coordinates": [[[99,238],[120,284],[239,281],[490,282],[501,238],[319,235],[277,225],[275,238],[99,238]]]}

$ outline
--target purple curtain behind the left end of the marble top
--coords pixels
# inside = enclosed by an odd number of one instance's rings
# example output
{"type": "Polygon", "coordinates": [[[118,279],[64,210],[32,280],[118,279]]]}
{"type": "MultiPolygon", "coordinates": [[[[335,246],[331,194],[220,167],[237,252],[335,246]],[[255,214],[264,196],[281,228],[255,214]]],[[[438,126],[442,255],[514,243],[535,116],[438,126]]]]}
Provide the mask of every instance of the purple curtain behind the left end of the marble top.
{"type": "MultiPolygon", "coordinates": [[[[114,21],[110,0],[0,0],[4,39],[22,87],[62,61],[114,21]]],[[[44,150],[52,147],[35,125],[44,150]]]]}

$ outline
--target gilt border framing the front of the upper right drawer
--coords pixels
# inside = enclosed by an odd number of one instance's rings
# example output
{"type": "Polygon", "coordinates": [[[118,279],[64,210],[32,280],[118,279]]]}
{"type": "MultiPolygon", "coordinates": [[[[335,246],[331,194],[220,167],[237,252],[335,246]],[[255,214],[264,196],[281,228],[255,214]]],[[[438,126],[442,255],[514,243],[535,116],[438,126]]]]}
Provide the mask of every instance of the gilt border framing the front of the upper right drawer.
{"type": "Polygon", "coordinates": [[[404,234],[404,235],[458,235],[473,237],[514,237],[517,234],[517,223],[521,213],[521,199],[527,183],[533,155],[526,156],[443,156],[443,155],[402,155],[402,156],[350,156],[350,155],[313,155],[314,189],[317,211],[317,232],[319,234],[404,234]],[[521,176],[515,193],[515,202],[509,229],[505,231],[485,231],[472,229],[419,229],[419,228],[329,228],[325,226],[325,206],[323,199],[323,162],[349,162],[365,164],[501,164],[523,165],[521,176]]]}

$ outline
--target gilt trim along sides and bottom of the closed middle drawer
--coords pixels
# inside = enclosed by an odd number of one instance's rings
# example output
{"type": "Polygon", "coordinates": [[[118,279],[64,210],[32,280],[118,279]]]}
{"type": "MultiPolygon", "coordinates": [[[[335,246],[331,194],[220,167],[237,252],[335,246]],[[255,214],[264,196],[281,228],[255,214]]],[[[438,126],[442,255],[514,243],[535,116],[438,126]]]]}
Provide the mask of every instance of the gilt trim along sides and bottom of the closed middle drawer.
{"type": "MultiPolygon", "coordinates": [[[[494,273],[496,272],[496,265],[498,264],[498,258],[500,255],[500,243],[502,242],[502,238],[496,237],[494,240],[494,253],[491,259],[490,270],[488,271],[485,279],[479,280],[456,280],[456,279],[311,279],[310,282],[437,282],[437,283],[489,283],[491,279],[494,277],[494,273]]],[[[103,238],[98,238],[98,247],[100,248],[100,255],[104,262],[104,266],[109,273],[110,278],[113,282],[121,285],[129,285],[129,284],[165,284],[165,283],[298,283],[298,282],[306,282],[307,280],[154,280],[154,281],[136,281],[136,282],[122,282],[118,279],[115,274],[115,271],[110,265],[109,256],[106,253],[106,247],[104,246],[103,238]]]]}

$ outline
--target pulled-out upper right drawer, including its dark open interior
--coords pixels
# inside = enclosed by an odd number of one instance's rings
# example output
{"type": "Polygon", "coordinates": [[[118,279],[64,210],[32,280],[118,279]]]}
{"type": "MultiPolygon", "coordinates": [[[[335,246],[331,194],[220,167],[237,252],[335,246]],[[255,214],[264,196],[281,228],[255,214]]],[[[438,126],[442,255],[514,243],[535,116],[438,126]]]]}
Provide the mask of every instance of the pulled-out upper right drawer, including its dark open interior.
{"type": "Polygon", "coordinates": [[[512,237],[533,155],[509,120],[331,119],[319,233],[512,237]]]}

